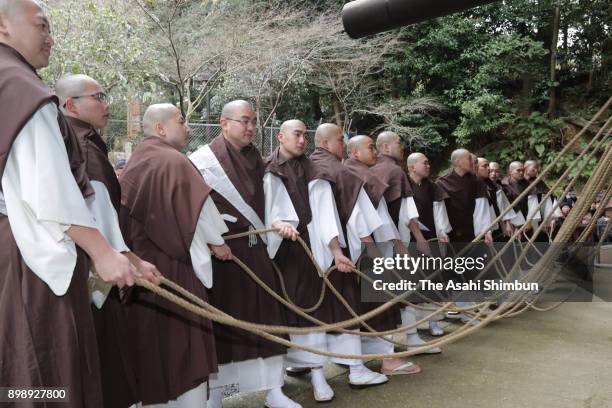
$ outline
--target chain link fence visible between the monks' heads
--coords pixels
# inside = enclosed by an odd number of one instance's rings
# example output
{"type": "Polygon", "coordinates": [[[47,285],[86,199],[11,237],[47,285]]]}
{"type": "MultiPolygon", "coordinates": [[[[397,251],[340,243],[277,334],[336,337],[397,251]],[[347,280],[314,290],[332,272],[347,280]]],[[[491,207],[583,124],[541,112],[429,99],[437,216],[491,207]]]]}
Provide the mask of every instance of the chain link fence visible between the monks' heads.
{"type": "MultiPolygon", "coordinates": [[[[110,120],[108,127],[104,130],[107,143],[116,158],[126,158],[131,153],[131,149],[136,147],[138,142],[144,138],[142,132],[135,139],[128,139],[126,120],[110,120]],[[126,148],[126,143],[131,143],[131,149],[126,148]]],[[[201,146],[210,143],[215,137],[221,134],[221,125],[211,123],[190,123],[191,138],[187,146],[186,153],[196,151],[201,146]]],[[[142,128],[141,128],[142,129],[142,128]]],[[[278,127],[266,127],[262,132],[257,129],[257,135],[253,139],[253,144],[257,146],[262,156],[270,155],[278,147],[278,127]]],[[[306,154],[314,150],[314,131],[308,131],[308,146],[306,154]]]]}

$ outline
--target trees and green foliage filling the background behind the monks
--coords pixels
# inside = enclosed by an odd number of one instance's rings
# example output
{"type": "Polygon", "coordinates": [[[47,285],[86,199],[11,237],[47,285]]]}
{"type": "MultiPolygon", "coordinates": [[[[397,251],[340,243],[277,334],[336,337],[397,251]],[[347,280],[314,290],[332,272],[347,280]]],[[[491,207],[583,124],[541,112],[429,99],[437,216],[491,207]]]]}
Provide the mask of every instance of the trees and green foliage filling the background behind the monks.
{"type": "Polygon", "coordinates": [[[358,41],[342,32],[339,0],[48,3],[49,82],[83,72],[112,89],[115,106],[132,92],[145,103],[181,101],[193,118],[210,90],[213,115],[247,98],[266,125],[339,119],[359,133],[393,129],[432,160],[461,145],[504,166],[546,164],[562,147],[556,118],[588,118],[612,92],[605,0],[561,0],[554,82],[556,0],[495,2],[358,41]]]}

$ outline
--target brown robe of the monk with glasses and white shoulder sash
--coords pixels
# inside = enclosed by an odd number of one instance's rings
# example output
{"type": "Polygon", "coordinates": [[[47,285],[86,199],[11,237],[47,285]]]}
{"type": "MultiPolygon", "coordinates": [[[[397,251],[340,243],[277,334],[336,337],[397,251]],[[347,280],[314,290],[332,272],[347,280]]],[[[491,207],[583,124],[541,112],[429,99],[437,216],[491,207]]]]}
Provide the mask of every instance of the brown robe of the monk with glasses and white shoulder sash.
{"type": "MultiPolygon", "coordinates": [[[[236,190],[263,222],[265,165],[259,151],[253,145],[238,151],[223,135],[217,136],[209,146],[236,190]]],[[[210,195],[221,214],[237,218],[236,222],[226,222],[228,234],[246,232],[252,227],[244,215],[219,193],[213,190],[210,195]]],[[[231,248],[232,254],[246,263],[272,290],[282,293],[265,243],[259,236],[251,237],[232,239],[227,241],[227,245],[231,248]],[[253,244],[254,239],[257,241],[255,244],[253,244]]],[[[249,322],[286,324],[285,307],[252,280],[235,262],[213,259],[213,274],[214,285],[210,291],[212,305],[249,322]]],[[[267,358],[286,352],[284,346],[265,340],[256,334],[224,325],[215,324],[215,340],[219,364],[258,357],[267,358]]]]}

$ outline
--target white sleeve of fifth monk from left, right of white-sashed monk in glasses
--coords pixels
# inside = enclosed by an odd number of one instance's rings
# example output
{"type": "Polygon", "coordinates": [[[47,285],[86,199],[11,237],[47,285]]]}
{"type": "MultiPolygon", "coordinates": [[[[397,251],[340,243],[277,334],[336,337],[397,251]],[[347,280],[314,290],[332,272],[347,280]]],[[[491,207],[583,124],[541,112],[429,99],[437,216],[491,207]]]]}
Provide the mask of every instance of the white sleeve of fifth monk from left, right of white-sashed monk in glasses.
{"type": "MultiPolygon", "coordinates": [[[[264,195],[266,198],[266,228],[272,228],[272,224],[276,221],[288,222],[297,228],[300,219],[295,212],[289,192],[280,177],[272,173],[266,173],[264,176],[264,195]]],[[[276,232],[269,232],[267,236],[268,256],[270,259],[274,259],[283,242],[283,237],[276,232]]]]}

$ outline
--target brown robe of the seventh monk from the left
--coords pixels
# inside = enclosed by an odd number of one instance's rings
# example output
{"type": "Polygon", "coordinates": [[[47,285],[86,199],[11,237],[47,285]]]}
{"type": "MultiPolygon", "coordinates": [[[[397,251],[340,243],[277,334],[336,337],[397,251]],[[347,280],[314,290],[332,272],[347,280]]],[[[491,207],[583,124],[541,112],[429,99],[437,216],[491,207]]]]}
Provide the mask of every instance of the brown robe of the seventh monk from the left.
{"type": "MultiPolygon", "coordinates": [[[[368,165],[355,159],[347,159],[344,161],[344,165],[350,170],[355,172],[359,178],[364,182],[364,189],[370,197],[370,201],[374,208],[378,208],[380,201],[384,197],[385,193],[390,189],[389,185],[385,184],[378,179],[376,174],[372,171],[368,165]]],[[[385,199],[386,200],[386,199],[385,199]]],[[[401,201],[401,197],[399,199],[401,201]]],[[[399,218],[399,211],[398,211],[399,218]]],[[[397,224],[396,224],[397,225],[397,224]]],[[[361,312],[366,313],[376,309],[380,306],[378,302],[361,302],[361,312]]],[[[393,307],[385,310],[379,315],[368,320],[367,323],[376,331],[392,330],[397,328],[398,324],[401,324],[401,303],[395,304],[393,307]]]]}

